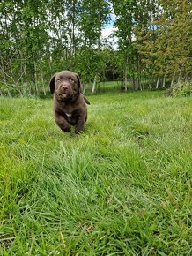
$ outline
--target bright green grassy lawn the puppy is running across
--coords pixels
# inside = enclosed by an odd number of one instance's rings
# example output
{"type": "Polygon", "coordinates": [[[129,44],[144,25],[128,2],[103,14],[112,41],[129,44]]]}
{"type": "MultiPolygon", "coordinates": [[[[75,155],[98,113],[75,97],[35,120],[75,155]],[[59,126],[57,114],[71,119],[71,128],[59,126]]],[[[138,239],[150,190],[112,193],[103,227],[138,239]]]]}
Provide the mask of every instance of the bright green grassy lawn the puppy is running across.
{"type": "Polygon", "coordinates": [[[74,135],[0,98],[0,255],[191,255],[191,98],[89,100],[74,135]]]}

